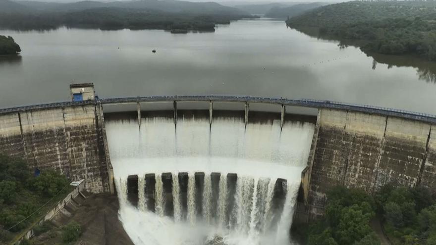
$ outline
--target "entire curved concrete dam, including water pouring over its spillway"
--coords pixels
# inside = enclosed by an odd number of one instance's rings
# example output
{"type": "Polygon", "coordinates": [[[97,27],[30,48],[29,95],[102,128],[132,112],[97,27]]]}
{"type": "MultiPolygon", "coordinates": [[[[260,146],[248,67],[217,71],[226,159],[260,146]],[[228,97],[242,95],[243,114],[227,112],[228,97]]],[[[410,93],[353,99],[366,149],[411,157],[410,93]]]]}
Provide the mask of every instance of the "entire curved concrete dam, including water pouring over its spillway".
{"type": "Polygon", "coordinates": [[[435,124],[309,99],[94,99],[1,109],[0,151],[116,193],[135,244],[281,245],[292,222],[324,214],[336,185],[436,194],[435,124]]]}

